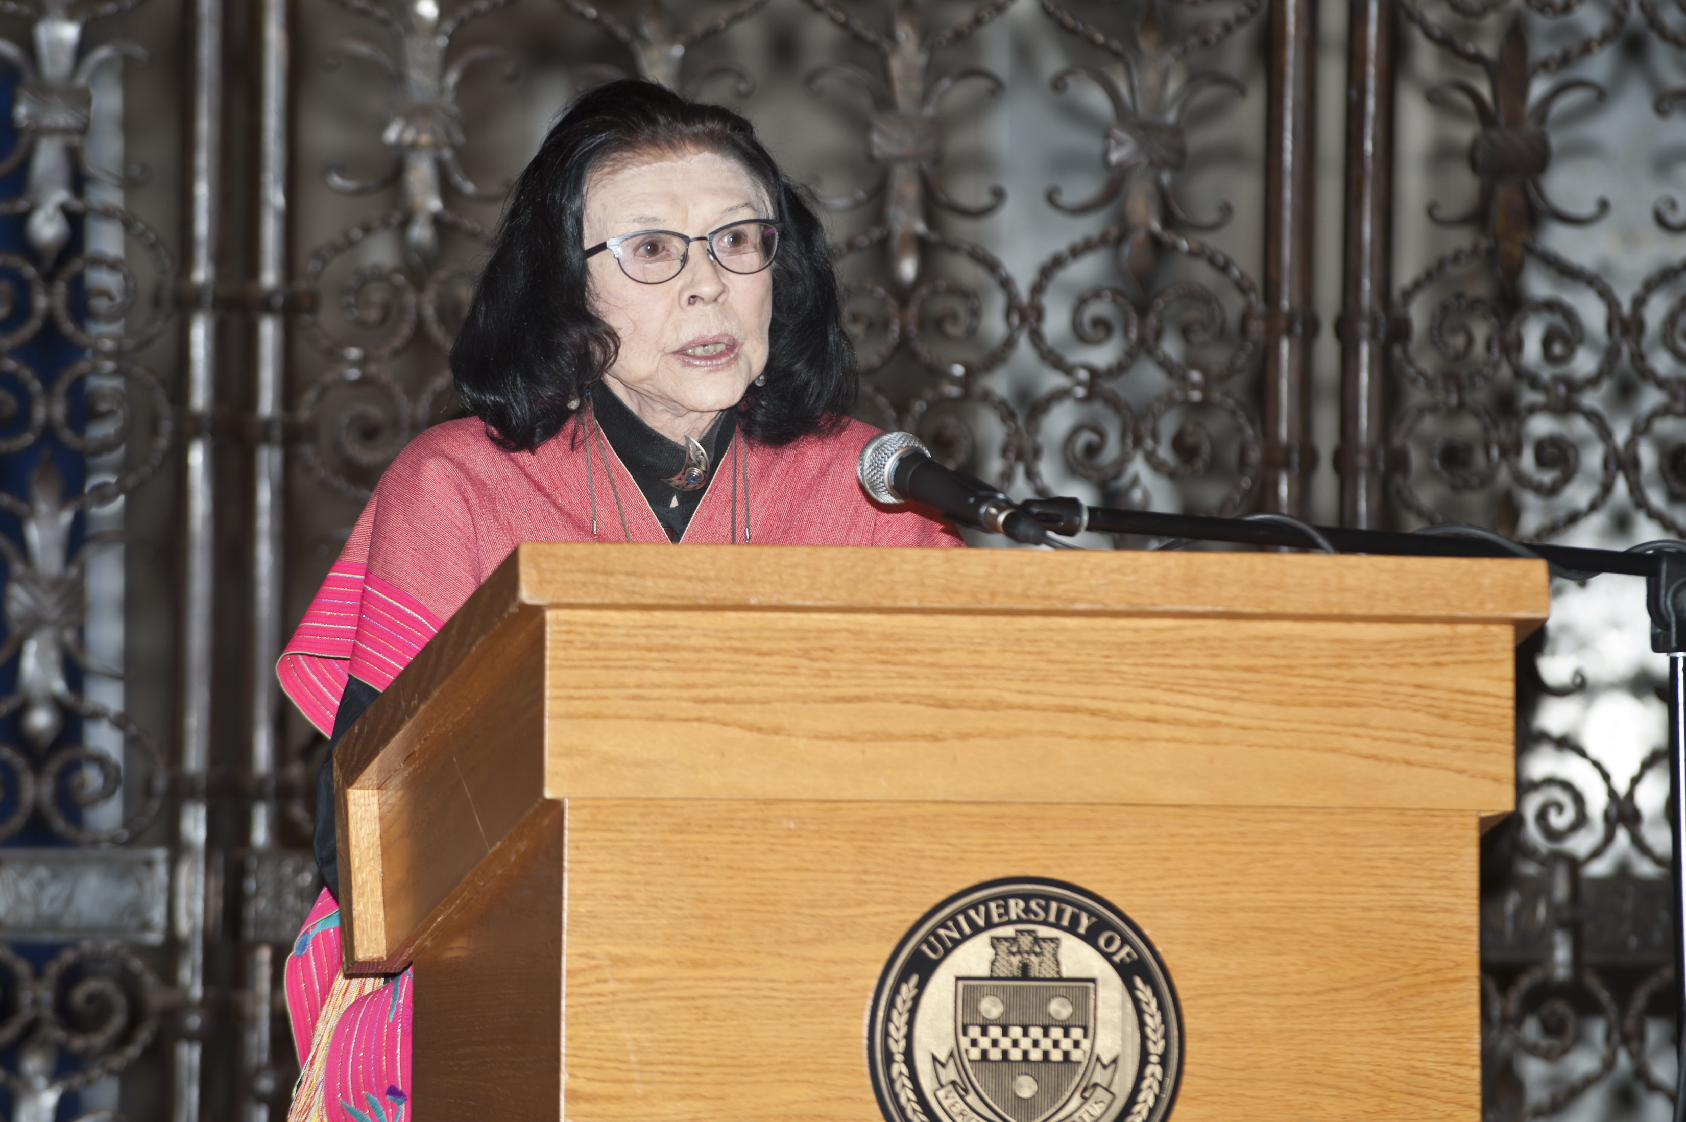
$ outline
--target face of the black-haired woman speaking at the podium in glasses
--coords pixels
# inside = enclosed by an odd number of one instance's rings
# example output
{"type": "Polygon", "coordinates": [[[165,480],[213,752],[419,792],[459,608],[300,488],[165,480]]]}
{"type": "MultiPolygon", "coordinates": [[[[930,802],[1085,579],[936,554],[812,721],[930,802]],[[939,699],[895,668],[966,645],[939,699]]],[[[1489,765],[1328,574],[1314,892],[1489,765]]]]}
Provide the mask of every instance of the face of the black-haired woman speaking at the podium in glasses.
{"type": "MultiPolygon", "coordinates": [[[[587,181],[585,248],[639,229],[701,236],[745,218],[771,218],[765,191],[713,152],[639,157],[587,181]]],[[[772,270],[732,273],[693,241],[669,282],[632,280],[610,251],[592,256],[592,310],[620,337],[609,388],[658,432],[701,437],[767,366],[772,270]]]]}

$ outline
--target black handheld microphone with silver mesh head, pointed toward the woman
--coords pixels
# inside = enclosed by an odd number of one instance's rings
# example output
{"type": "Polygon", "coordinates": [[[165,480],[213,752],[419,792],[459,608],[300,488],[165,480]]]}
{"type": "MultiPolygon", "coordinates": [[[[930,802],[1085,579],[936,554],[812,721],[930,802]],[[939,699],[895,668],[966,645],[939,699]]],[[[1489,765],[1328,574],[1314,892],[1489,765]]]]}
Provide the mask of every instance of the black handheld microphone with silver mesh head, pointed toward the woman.
{"type": "Polygon", "coordinates": [[[1047,545],[1049,531],[983,479],[951,471],[910,432],[882,432],[855,464],[862,489],[880,503],[919,503],[964,525],[1005,533],[1025,545],[1047,545]]]}

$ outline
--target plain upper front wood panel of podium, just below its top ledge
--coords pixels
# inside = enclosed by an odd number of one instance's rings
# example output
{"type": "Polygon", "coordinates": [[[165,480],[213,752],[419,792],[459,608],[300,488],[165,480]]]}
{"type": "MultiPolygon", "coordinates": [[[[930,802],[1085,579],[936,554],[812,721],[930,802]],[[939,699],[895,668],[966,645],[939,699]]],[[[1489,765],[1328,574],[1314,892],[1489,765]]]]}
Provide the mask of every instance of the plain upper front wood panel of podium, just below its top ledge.
{"type": "Polygon", "coordinates": [[[546,633],[551,798],[1512,803],[1509,624],[570,609],[546,633]]]}

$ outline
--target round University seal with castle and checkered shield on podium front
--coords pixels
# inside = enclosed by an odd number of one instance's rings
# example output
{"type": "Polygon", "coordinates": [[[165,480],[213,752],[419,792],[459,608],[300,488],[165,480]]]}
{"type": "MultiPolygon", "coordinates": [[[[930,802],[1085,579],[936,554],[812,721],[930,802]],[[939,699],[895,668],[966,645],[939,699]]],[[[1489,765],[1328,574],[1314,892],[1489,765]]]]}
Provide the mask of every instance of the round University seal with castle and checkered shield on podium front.
{"type": "Polygon", "coordinates": [[[887,1122],[1160,1122],[1182,1011],[1123,911],[1076,884],[990,881],[895,948],[867,1063],[887,1122]]]}

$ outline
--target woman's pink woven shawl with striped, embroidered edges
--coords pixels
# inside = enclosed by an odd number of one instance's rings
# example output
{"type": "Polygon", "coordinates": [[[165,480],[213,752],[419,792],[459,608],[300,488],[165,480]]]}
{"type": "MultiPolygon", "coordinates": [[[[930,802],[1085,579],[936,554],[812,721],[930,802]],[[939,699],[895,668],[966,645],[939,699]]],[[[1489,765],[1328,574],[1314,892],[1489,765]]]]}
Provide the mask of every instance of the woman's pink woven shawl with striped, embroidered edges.
{"type": "MultiPolygon", "coordinates": [[[[877,429],[848,422],[786,447],[738,439],[717,466],[683,543],[954,547],[959,537],[915,508],[882,506],[855,479],[877,429]],[[742,472],[742,467],[740,467],[742,472]],[[747,491],[747,494],[745,494],[747,491]]],[[[666,543],[668,535],[607,442],[578,422],[536,452],[504,452],[475,418],[428,429],[386,469],[339,560],[282,653],[282,690],[324,736],[349,675],[384,690],[523,542],[666,543]],[[604,454],[607,452],[607,456],[604,454]],[[622,525],[624,518],[624,525],[622,525]]],[[[339,911],[325,891],[287,962],[287,1006],[302,1063],[339,975],[339,911]]],[[[410,975],[352,1002],[325,1038],[324,1105],[336,1122],[406,1117],[410,975]]],[[[297,1093],[305,1093],[300,1087],[297,1093]]]]}

